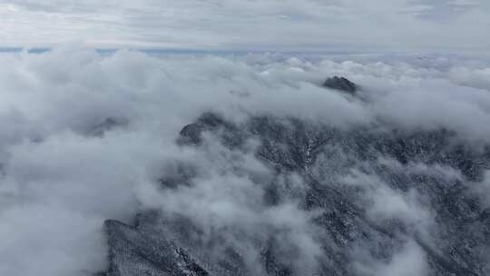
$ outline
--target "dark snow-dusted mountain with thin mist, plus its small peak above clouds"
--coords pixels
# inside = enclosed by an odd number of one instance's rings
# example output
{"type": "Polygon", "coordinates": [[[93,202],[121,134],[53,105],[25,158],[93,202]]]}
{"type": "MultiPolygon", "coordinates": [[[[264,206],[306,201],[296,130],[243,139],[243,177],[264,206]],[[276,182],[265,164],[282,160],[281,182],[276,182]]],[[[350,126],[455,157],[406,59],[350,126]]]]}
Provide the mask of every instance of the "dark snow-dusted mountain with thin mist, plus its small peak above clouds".
{"type": "MultiPolygon", "coordinates": [[[[338,77],[324,86],[357,89],[338,77]]],[[[237,191],[252,192],[232,192],[231,202],[250,197],[243,204],[261,219],[247,212],[224,220],[202,208],[191,212],[193,202],[182,200],[172,210],[142,210],[131,225],[107,221],[109,269],[100,275],[490,273],[490,209],[477,192],[490,168],[488,145],[444,128],[341,128],[271,114],[235,122],[213,112],[184,126],[177,143],[209,163],[220,158],[213,154],[229,154],[229,163],[212,173],[176,163],[155,182],[160,192],[200,201],[192,191],[212,182],[209,175],[232,175],[249,185],[240,182],[237,191]],[[267,173],[250,169],[250,155],[267,173]]]]}

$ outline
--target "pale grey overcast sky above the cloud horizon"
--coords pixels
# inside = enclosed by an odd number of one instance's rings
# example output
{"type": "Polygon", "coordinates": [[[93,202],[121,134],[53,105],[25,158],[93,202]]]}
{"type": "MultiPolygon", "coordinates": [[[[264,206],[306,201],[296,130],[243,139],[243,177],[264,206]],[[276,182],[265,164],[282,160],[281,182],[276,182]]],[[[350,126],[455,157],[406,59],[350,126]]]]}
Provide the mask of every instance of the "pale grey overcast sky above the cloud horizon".
{"type": "Polygon", "coordinates": [[[0,47],[486,51],[487,0],[0,0],[0,47]]]}

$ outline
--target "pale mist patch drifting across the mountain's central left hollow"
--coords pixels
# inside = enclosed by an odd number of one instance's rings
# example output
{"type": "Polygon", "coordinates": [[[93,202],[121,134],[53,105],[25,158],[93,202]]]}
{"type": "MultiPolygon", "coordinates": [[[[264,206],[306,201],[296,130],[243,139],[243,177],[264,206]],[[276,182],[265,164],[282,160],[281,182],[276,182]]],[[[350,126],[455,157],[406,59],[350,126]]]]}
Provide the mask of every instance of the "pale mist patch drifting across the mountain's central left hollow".
{"type": "Polygon", "coordinates": [[[315,272],[322,253],[318,242],[321,230],[312,220],[319,213],[300,210],[297,199],[274,206],[265,202],[261,185],[270,182],[274,173],[253,151],[230,151],[217,141],[208,137],[203,151],[191,150],[178,157],[180,163],[198,171],[189,187],[163,192],[145,187],[140,191],[142,202],[173,217],[191,219],[201,232],[200,240],[209,244],[202,254],[216,251],[211,244],[218,238],[215,247],[238,248],[251,273],[262,275],[264,244],[276,242],[275,256],[280,263],[297,273],[315,272]]]}

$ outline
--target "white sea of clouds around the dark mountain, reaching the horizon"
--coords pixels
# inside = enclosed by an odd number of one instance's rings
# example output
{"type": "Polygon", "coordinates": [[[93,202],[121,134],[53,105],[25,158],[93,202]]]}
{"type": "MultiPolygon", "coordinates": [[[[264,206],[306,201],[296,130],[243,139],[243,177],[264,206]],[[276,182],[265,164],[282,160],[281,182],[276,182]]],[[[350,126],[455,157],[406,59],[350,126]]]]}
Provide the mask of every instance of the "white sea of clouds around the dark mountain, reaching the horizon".
{"type": "MultiPolygon", "coordinates": [[[[485,60],[107,54],[59,47],[44,54],[0,54],[0,64],[0,275],[103,271],[104,220],[132,222],[136,212],[155,206],[193,217],[201,226],[250,225],[244,229],[249,233],[286,228],[291,236],[285,239],[315,255],[311,213],[294,202],[267,209],[257,203],[262,194],[249,178],[218,173],[238,163],[269,177],[253,156],[237,157],[219,145],[195,153],[175,143],[182,126],[205,111],[235,122],[273,114],[339,128],[374,122],[409,130],[444,127],[476,147],[490,143],[490,63],[485,60]],[[322,88],[333,75],[357,83],[358,96],[322,88]],[[160,192],[156,180],[162,171],[171,173],[175,160],[191,161],[208,174],[207,181],[160,192]]],[[[346,184],[366,182],[365,177],[359,173],[346,184]]],[[[369,182],[373,216],[390,215],[377,199],[393,202],[393,212],[415,221],[430,215],[415,210],[409,198],[379,188],[376,179],[369,182]]],[[[490,173],[477,188],[490,205],[490,173]]],[[[392,262],[362,269],[421,275],[426,263],[420,251],[407,242],[392,262]],[[407,269],[414,264],[420,269],[407,269]]]]}

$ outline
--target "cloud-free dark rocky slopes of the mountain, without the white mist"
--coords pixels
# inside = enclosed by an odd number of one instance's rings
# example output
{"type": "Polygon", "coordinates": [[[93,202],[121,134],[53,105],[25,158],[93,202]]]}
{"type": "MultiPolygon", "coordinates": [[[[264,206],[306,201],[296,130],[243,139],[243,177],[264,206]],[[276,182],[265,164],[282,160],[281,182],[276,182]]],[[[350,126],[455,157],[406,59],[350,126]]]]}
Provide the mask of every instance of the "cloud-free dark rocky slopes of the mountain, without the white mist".
{"type": "MultiPolygon", "coordinates": [[[[349,93],[356,87],[340,78],[327,85],[349,93]]],[[[206,132],[234,150],[245,147],[247,139],[260,141],[255,156],[278,175],[257,182],[264,190],[265,204],[274,206],[294,197],[299,208],[319,211],[313,223],[322,230],[318,240],[322,252],[310,275],[373,275],[373,271],[358,269],[356,252],[361,249],[371,262],[389,263],[407,241],[423,252],[427,275],[484,276],[490,272],[490,210],[471,192],[471,185],[490,168],[489,147],[474,150],[446,130],[339,130],[270,116],[236,125],[214,113],[185,126],[179,143],[205,147],[202,134],[206,132]],[[278,179],[287,173],[299,175],[305,192],[284,191],[278,179]],[[362,183],[346,184],[346,178],[359,174],[364,177],[362,183]],[[370,179],[376,183],[368,184],[370,179]],[[380,189],[378,182],[387,189],[383,191],[407,197],[417,194],[414,201],[430,211],[426,220],[430,225],[419,225],[418,217],[376,215],[387,212],[373,212],[368,200],[371,192],[380,189]]],[[[192,173],[173,177],[171,189],[191,185],[192,177],[192,173]]],[[[392,208],[389,203],[384,207],[392,208]]],[[[257,275],[240,248],[203,242],[199,226],[185,217],[145,211],[133,227],[108,221],[105,229],[110,247],[108,276],[257,275]]],[[[222,241],[226,232],[216,235],[216,241],[222,241]]],[[[285,241],[273,236],[268,241],[258,244],[264,275],[307,275],[291,266],[293,260],[280,255],[285,241]]]]}

